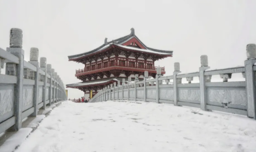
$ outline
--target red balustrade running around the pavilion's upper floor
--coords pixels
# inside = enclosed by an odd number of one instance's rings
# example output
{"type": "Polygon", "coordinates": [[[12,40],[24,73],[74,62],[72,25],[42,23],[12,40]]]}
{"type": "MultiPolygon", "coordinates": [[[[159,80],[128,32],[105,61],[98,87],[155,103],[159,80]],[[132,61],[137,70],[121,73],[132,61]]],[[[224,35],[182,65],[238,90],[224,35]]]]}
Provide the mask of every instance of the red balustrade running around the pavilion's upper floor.
{"type": "MultiPolygon", "coordinates": [[[[148,70],[157,70],[158,67],[152,66],[152,65],[136,65],[136,64],[127,64],[127,63],[108,63],[108,64],[100,64],[100,65],[93,65],[86,67],[85,69],[78,69],[76,70],[76,74],[88,72],[88,71],[93,71],[97,69],[103,69],[103,68],[108,68],[108,67],[127,67],[127,68],[136,68],[136,69],[148,69],[148,70]]],[[[164,71],[164,67],[161,67],[161,71],[164,71]]]]}

